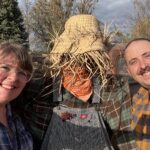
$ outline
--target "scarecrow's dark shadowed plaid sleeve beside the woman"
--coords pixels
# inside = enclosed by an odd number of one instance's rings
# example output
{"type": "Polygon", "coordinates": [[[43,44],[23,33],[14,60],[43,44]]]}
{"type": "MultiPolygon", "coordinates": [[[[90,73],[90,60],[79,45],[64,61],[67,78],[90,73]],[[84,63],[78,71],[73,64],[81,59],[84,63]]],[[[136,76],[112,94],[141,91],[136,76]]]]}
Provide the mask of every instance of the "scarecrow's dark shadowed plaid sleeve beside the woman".
{"type": "Polygon", "coordinates": [[[39,150],[51,120],[53,107],[52,81],[38,78],[30,81],[22,94],[12,101],[13,108],[19,113],[24,124],[29,127],[33,137],[33,148],[39,150]]]}

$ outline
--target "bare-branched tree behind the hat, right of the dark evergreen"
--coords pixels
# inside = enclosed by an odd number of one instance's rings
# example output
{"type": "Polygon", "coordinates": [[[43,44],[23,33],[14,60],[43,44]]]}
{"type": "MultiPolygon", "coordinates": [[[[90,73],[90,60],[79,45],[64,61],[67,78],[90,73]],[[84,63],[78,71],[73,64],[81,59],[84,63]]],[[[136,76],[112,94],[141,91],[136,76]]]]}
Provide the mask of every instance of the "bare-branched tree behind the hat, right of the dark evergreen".
{"type": "Polygon", "coordinates": [[[30,11],[30,29],[36,44],[45,49],[64,30],[66,20],[73,14],[90,14],[98,0],[38,0],[30,11]],[[42,44],[41,44],[42,43],[42,44]]]}

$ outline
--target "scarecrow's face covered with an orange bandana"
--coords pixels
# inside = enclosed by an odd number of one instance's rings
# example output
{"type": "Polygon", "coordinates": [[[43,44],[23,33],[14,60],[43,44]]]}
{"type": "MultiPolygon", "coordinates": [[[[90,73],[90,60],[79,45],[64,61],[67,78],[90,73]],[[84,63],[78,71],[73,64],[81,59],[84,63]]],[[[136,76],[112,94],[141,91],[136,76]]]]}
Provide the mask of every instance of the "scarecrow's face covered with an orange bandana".
{"type": "Polygon", "coordinates": [[[67,91],[84,102],[92,95],[92,81],[85,68],[64,68],[62,83],[67,91]]]}

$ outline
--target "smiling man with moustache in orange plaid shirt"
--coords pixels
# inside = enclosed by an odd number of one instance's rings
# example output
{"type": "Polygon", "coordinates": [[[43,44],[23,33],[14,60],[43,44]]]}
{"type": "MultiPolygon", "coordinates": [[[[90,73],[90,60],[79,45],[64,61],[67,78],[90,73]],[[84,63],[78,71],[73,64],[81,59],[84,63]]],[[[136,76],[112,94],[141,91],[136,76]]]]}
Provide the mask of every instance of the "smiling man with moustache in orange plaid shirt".
{"type": "Polygon", "coordinates": [[[132,99],[132,122],[138,149],[150,147],[150,40],[134,39],[125,48],[127,71],[141,87],[132,99]]]}

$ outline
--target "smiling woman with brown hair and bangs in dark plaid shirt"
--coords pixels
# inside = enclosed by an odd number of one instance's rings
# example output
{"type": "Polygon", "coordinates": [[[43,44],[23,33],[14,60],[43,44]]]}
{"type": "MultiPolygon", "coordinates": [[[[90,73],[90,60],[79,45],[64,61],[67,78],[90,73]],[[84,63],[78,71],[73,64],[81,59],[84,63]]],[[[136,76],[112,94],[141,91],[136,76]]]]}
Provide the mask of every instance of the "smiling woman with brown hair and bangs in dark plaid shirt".
{"type": "Polygon", "coordinates": [[[32,138],[12,112],[14,100],[30,80],[33,67],[26,49],[10,42],[0,44],[0,149],[32,150],[32,138]]]}

